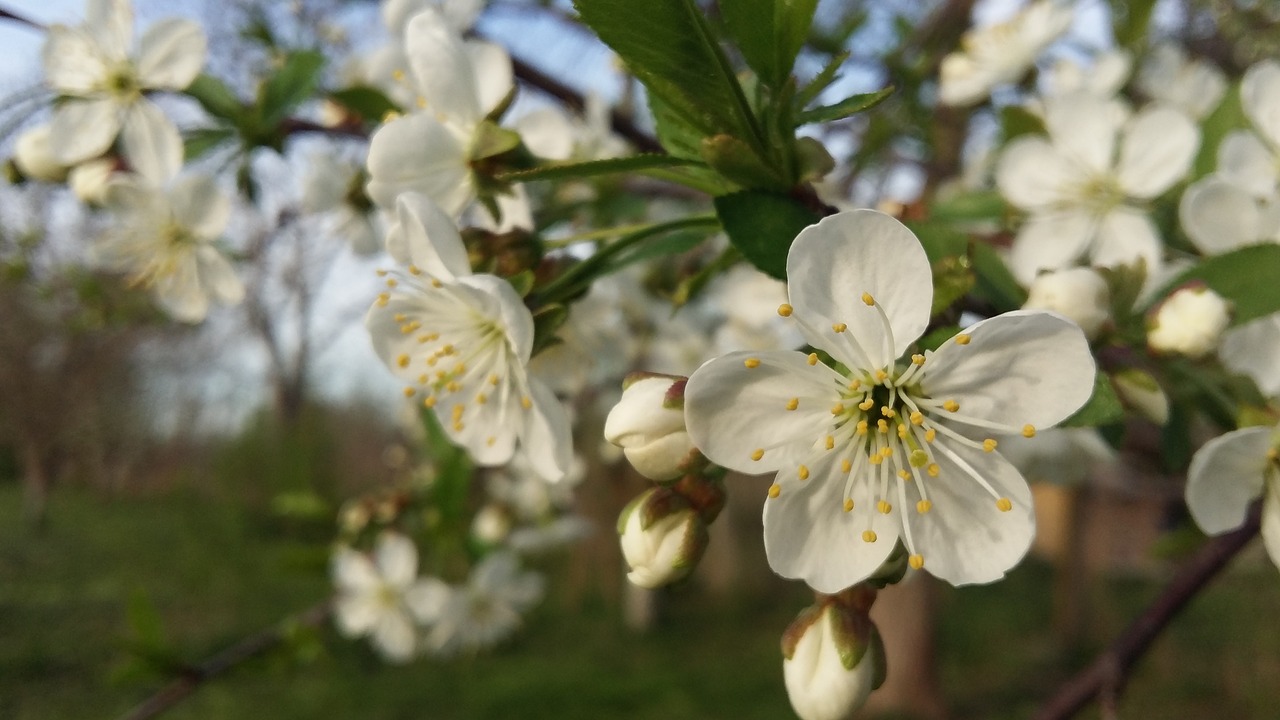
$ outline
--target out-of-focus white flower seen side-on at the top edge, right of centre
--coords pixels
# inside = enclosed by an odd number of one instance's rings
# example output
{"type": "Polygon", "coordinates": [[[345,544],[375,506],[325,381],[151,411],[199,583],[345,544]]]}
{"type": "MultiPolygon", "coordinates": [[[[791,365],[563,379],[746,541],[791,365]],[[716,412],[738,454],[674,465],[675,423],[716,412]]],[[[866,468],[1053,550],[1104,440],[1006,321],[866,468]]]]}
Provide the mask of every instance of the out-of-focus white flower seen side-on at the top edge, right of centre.
{"type": "Polygon", "coordinates": [[[1071,27],[1071,18],[1070,5],[1037,0],[1002,23],[970,29],[960,51],[942,59],[938,100],[973,105],[993,87],[1016,81],[1071,27]]]}

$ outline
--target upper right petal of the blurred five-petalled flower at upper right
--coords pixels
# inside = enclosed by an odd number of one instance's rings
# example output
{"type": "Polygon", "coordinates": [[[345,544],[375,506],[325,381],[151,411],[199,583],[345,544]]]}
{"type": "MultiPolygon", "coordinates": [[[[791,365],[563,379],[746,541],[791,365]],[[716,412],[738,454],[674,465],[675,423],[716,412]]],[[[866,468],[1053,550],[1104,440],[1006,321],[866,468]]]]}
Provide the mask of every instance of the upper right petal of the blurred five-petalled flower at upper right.
{"type": "Polygon", "coordinates": [[[1199,149],[1199,128],[1169,108],[1151,108],[1125,124],[1116,179],[1130,197],[1149,200],[1190,170],[1199,149]]]}

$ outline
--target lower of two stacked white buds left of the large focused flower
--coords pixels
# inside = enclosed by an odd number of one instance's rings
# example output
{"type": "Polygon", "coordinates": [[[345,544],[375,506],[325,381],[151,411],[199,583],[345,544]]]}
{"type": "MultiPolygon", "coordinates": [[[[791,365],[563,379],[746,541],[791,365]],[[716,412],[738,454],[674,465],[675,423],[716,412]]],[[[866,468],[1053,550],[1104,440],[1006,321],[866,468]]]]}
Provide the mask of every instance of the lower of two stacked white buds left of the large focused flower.
{"type": "Polygon", "coordinates": [[[707,550],[707,524],[689,501],[667,488],[653,488],[618,516],[627,579],[643,588],[681,580],[707,550]]]}

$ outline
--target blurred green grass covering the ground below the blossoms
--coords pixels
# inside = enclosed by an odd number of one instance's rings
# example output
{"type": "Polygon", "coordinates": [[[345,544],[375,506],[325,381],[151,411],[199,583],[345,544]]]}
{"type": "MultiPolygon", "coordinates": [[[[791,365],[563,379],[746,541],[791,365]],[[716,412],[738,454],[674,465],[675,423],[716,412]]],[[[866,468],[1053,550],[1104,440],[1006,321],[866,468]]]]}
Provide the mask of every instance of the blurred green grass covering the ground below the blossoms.
{"type": "MultiPolygon", "coordinates": [[[[131,594],[150,598],[169,647],[195,661],[329,588],[323,533],[284,532],[227,501],[174,492],[104,502],[68,491],[54,496],[38,534],[17,521],[19,501],[0,486],[4,719],[111,717],[152,692],[154,676],[123,671],[131,594]]],[[[1157,642],[1124,716],[1268,717],[1280,707],[1280,574],[1242,565],[1157,642]]],[[[1085,652],[1066,657],[1048,639],[1051,582],[1048,568],[1027,564],[1004,583],[940,593],[941,675],[955,716],[1028,716],[1158,591],[1139,580],[1094,588],[1085,652]]],[[[648,635],[623,628],[603,601],[553,597],[498,652],[402,667],[326,626],[308,662],[248,665],[166,717],[791,717],[778,635],[806,597],[796,584],[733,602],[685,588],[648,635]]]]}

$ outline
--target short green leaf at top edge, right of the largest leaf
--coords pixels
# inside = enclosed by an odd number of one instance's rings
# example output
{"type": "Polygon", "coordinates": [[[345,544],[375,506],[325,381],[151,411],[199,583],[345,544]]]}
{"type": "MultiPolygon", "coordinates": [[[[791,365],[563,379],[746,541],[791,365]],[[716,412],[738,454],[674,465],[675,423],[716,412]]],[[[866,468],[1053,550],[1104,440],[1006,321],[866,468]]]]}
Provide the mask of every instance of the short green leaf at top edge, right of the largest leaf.
{"type": "Polygon", "coordinates": [[[764,85],[781,87],[809,36],[818,0],[733,0],[721,18],[746,64],[764,85]]]}

